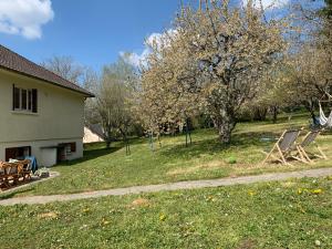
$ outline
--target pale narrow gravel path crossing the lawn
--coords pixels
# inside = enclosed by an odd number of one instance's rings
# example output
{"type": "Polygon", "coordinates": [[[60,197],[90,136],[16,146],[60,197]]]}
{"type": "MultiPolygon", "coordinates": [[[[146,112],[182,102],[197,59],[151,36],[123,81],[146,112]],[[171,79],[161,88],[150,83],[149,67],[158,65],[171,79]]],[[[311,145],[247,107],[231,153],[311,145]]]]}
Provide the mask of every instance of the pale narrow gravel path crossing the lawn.
{"type": "Polygon", "coordinates": [[[219,186],[230,186],[230,185],[238,185],[238,184],[284,180],[289,178],[323,177],[323,176],[332,176],[332,168],[318,168],[318,169],[308,169],[308,170],[290,172],[290,173],[272,173],[272,174],[242,176],[242,177],[235,177],[235,178],[189,180],[189,181],[159,184],[159,185],[135,186],[135,187],[127,187],[127,188],[114,188],[107,190],[97,190],[97,191],[70,194],[70,195],[18,197],[18,198],[0,200],[0,206],[12,206],[15,204],[28,204],[28,205],[48,204],[53,201],[68,201],[68,200],[76,200],[76,199],[97,198],[103,196],[123,196],[123,195],[131,195],[131,194],[155,193],[155,191],[163,191],[163,190],[219,187],[219,186]]]}

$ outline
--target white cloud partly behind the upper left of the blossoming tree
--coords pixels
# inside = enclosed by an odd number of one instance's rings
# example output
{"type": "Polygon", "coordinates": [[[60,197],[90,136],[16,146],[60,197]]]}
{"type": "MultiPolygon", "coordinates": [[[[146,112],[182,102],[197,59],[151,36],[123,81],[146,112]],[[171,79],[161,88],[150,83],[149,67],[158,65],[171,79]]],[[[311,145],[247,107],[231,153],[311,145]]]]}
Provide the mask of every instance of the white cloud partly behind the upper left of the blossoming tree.
{"type": "MultiPolygon", "coordinates": [[[[152,45],[160,46],[162,42],[165,41],[165,38],[175,35],[176,33],[177,33],[177,31],[173,30],[173,29],[169,29],[169,30],[165,31],[164,33],[152,33],[151,35],[148,35],[145,39],[145,42],[144,42],[145,48],[144,48],[143,52],[142,53],[132,53],[132,54],[127,55],[126,56],[127,62],[134,66],[139,66],[141,64],[144,64],[146,58],[151,53],[152,45]]],[[[166,40],[166,42],[167,42],[167,40],[166,40]]],[[[124,56],[125,53],[120,52],[120,55],[124,56]]]]}

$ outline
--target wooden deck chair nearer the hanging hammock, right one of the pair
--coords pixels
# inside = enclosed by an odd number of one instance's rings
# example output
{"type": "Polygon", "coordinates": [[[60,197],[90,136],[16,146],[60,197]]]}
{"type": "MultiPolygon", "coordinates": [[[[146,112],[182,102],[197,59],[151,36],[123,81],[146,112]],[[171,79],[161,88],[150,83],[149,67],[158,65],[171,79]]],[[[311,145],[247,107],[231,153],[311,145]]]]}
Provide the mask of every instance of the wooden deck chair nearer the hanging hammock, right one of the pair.
{"type": "Polygon", "coordinates": [[[318,146],[318,144],[315,143],[315,138],[321,134],[321,129],[317,129],[317,131],[310,131],[302,139],[301,143],[299,143],[297,145],[299,155],[302,158],[305,158],[309,163],[312,163],[312,159],[310,158],[309,155],[314,156],[314,157],[319,157],[322,159],[326,159],[328,157],[325,156],[325,154],[323,153],[323,151],[318,146]],[[311,153],[308,151],[309,145],[315,145],[315,148],[318,151],[318,154],[315,153],[311,153]]]}

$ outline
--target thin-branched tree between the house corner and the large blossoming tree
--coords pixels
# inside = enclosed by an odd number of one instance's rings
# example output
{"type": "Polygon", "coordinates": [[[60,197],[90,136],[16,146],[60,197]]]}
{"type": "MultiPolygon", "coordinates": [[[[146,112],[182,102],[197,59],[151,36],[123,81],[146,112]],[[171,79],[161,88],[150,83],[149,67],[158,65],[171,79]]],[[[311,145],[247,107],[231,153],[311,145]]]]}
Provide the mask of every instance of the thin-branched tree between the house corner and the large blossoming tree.
{"type": "Polygon", "coordinates": [[[107,147],[120,133],[129,153],[128,132],[136,122],[132,112],[136,86],[135,69],[123,58],[104,66],[93,108],[104,128],[107,147]]]}

